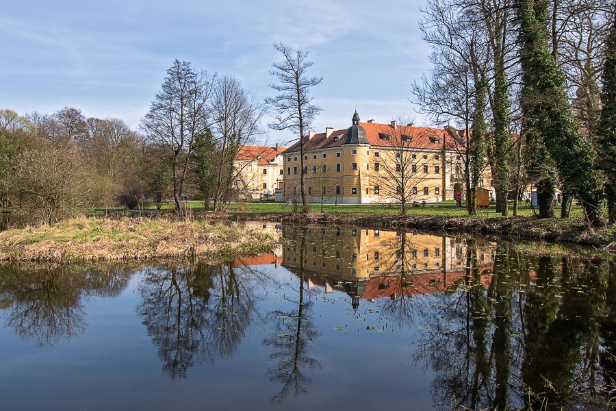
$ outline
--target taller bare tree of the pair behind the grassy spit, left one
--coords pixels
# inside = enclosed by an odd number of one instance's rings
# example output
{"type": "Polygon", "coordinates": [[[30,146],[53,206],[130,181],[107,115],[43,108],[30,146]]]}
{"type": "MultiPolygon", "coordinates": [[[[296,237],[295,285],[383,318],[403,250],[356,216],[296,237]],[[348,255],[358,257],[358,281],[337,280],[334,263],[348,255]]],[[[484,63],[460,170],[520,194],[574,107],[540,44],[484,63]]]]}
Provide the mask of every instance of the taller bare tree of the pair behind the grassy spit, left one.
{"type": "Polygon", "coordinates": [[[209,121],[212,76],[194,71],[189,62],[174,60],[167,70],[141,127],[149,142],[161,148],[171,168],[172,192],[179,219],[183,210],[181,195],[188,164],[198,134],[205,133],[209,121]]]}

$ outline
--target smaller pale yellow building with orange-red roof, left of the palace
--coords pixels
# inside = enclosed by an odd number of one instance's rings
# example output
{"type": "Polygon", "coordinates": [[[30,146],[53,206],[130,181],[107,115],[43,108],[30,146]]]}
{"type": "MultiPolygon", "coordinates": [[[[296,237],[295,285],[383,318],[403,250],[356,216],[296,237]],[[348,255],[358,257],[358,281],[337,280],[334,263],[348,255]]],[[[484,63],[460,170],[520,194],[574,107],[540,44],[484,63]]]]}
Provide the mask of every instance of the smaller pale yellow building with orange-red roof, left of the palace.
{"type": "Polygon", "coordinates": [[[235,157],[238,177],[235,184],[245,197],[274,195],[283,187],[284,147],[244,146],[235,157]]]}

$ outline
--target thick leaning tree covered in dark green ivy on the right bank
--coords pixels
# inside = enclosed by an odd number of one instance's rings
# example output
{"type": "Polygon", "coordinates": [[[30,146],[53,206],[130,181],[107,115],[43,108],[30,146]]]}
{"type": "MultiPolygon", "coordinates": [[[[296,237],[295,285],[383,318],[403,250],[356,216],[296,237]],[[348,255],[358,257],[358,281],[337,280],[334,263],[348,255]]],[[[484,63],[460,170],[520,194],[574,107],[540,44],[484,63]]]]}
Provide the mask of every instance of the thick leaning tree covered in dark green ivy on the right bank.
{"type": "MultiPolygon", "coordinates": [[[[582,203],[591,223],[602,221],[601,173],[595,164],[595,153],[580,134],[567,92],[565,77],[550,52],[548,2],[517,0],[519,42],[522,62],[522,110],[524,127],[531,142],[554,161],[565,190],[582,203]]],[[[537,184],[540,216],[554,214],[555,179],[550,173],[537,184]]]]}

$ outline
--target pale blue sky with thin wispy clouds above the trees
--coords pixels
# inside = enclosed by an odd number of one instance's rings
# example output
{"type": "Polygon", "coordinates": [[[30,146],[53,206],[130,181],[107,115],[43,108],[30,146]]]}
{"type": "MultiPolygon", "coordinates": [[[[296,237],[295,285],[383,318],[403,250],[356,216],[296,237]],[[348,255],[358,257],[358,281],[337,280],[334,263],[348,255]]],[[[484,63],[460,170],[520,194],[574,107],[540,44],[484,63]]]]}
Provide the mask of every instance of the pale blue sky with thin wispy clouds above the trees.
{"type": "MultiPolygon", "coordinates": [[[[11,1],[0,13],[0,108],[20,114],[79,108],[138,129],[173,59],[235,75],[258,99],[272,95],[272,43],[310,51],[323,111],[313,123],[350,126],[405,117],[428,70],[418,23],[424,0],[11,1]]],[[[267,126],[268,119],[263,125],[267,126]]],[[[291,140],[270,131],[262,142],[291,140]]]]}

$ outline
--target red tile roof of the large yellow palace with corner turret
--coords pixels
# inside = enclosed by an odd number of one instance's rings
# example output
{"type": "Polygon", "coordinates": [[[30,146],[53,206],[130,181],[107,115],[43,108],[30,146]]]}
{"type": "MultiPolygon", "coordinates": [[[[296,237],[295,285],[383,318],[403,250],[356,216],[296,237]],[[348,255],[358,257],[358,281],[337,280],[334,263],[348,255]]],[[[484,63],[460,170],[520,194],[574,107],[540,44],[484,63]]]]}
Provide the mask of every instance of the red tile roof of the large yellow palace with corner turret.
{"type": "MultiPolygon", "coordinates": [[[[398,125],[394,129],[389,124],[381,123],[359,123],[363,129],[370,145],[380,147],[392,147],[399,144],[401,138],[411,137],[411,142],[405,142],[405,146],[411,149],[442,149],[442,138],[444,129],[431,127],[417,127],[409,125],[398,125]],[[389,136],[389,140],[383,140],[380,134],[389,136]]],[[[328,138],[325,133],[315,134],[310,140],[305,142],[305,150],[327,149],[330,147],[340,147],[344,143],[347,129],[335,130],[328,138]],[[336,137],[338,140],[336,141],[336,137]]],[[[399,147],[399,146],[398,146],[399,147]]],[[[289,147],[285,153],[299,151],[299,142],[289,147]]]]}

